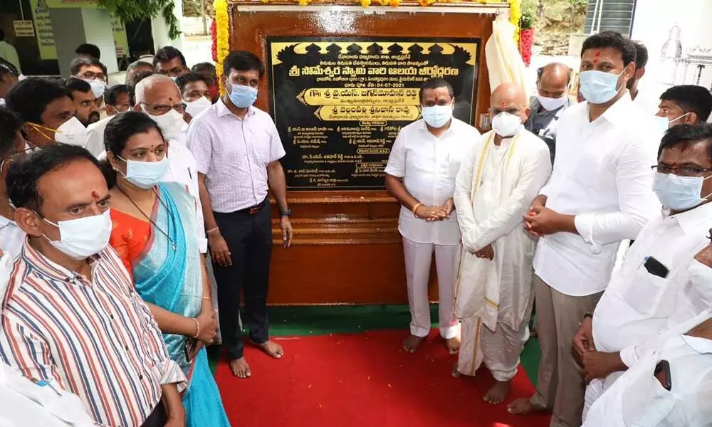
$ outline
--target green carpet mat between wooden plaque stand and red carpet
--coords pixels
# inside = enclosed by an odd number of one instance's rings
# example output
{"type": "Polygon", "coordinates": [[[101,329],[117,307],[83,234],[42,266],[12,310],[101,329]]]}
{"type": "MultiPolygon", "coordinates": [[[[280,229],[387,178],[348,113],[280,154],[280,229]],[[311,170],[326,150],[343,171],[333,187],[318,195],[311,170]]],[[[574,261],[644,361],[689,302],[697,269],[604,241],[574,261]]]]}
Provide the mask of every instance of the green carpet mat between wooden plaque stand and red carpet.
{"type": "MultiPolygon", "coordinates": [[[[407,330],[410,311],[407,305],[314,305],[306,307],[269,307],[270,334],[273,337],[321,334],[348,334],[368,330],[407,330]]],[[[438,305],[430,307],[430,318],[437,320],[438,305]]],[[[437,327],[434,323],[433,327],[437,327]]],[[[213,372],[220,354],[219,346],[208,347],[213,372]]],[[[532,384],[536,384],[539,344],[530,339],[521,356],[532,384]]]]}

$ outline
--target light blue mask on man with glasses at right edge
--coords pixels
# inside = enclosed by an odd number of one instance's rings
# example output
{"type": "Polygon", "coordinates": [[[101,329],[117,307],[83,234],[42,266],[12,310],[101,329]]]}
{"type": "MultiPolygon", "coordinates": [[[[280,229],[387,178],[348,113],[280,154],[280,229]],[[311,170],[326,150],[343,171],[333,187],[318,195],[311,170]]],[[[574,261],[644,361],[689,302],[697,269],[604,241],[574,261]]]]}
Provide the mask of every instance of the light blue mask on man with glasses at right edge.
{"type": "Polygon", "coordinates": [[[709,196],[702,197],[702,176],[678,176],[674,174],[655,174],[653,191],[660,203],[673,211],[685,211],[702,204],[709,196]]]}

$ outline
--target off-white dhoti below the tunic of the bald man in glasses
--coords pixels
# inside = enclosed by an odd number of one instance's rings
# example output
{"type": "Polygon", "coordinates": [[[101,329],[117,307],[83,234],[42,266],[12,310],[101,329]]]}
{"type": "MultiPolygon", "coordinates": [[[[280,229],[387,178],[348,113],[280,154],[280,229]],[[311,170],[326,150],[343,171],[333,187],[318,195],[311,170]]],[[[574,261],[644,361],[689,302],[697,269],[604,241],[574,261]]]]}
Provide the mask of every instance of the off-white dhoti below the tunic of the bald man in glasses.
{"type": "Polygon", "coordinates": [[[492,332],[485,326],[478,328],[477,317],[464,319],[457,370],[461,374],[474,376],[483,362],[494,379],[509,381],[517,374],[519,357],[528,339],[529,328],[525,322],[517,331],[498,322],[492,332]]]}

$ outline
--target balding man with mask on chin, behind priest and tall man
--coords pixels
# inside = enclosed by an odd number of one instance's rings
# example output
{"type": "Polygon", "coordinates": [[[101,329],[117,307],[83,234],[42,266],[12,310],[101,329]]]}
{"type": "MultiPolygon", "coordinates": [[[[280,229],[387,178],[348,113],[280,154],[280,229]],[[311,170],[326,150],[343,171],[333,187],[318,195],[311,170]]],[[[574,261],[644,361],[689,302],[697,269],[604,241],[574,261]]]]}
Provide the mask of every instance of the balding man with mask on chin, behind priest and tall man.
{"type": "Polygon", "coordinates": [[[531,114],[524,122],[529,132],[537,135],[549,147],[554,162],[556,123],[569,107],[571,69],[562,63],[550,63],[537,70],[536,96],[531,97],[531,114]]]}

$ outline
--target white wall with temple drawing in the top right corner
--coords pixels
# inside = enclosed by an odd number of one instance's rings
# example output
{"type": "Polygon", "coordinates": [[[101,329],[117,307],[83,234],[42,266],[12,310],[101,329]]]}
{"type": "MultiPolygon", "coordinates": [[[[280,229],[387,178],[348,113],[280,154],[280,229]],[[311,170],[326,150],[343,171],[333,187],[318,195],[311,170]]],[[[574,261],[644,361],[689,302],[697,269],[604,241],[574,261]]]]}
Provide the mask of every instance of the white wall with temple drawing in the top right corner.
{"type": "MultiPolygon", "coordinates": [[[[639,0],[635,9],[632,38],[644,43],[648,48],[649,60],[645,77],[639,83],[641,90],[651,95],[659,95],[666,88],[679,84],[696,84],[698,69],[690,65],[687,72],[680,65],[661,58],[661,50],[668,38],[669,28],[677,24],[681,28],[680,41],[683,56],[689,48],[701,46],[712,48],[711,0],[639,0]]],[[[673,38],[674,42],[674,38],[673,38]]],[[[669,53],[674,53],[674,43],[670,43],[669,53]]],[[[711,51],[712,53],[712,51],[711,51]]],[[[703,70],[700,85],[712,85],[712,65],[703,70]]]]}

